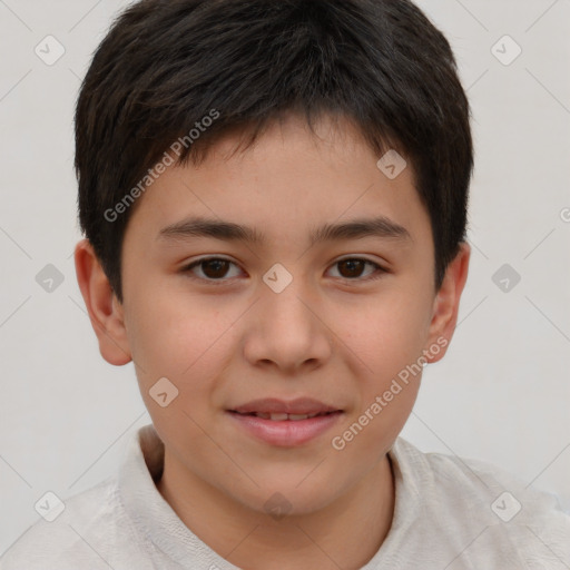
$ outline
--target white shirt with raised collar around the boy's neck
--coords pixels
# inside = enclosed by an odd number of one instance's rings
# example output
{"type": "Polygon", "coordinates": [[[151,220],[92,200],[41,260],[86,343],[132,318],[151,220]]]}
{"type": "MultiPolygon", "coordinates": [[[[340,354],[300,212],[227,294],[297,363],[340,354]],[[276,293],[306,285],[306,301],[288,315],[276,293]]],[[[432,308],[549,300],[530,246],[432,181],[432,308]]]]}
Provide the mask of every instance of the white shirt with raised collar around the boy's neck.
{"type": "MultiPolygon", "coordinates": [[[[553,495],[483,462],[423,453],[402,438],[389,454],[394,519],[363,570],[570,568],[570,513],[553,495]]],[[[155,485],[163,460],[154,426],[141,428],[117,475],[65,500],[55,521],[40,519],[0,568],[237,570],[163,499],[155,485]]]]}

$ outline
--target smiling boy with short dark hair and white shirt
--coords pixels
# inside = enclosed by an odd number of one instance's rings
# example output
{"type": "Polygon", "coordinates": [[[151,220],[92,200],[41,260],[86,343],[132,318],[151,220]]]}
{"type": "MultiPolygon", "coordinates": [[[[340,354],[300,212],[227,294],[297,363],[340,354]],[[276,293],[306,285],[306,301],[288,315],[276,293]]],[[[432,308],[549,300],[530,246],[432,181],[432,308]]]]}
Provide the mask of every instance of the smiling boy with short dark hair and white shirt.
{"type": "Polygon", "coordinates": [[[568,568],[552,497],[399,438],[470,256],[469,104],[417,8],[135,3],[76,145],[79,286],[153,424],[2,568],[568,568]]]}

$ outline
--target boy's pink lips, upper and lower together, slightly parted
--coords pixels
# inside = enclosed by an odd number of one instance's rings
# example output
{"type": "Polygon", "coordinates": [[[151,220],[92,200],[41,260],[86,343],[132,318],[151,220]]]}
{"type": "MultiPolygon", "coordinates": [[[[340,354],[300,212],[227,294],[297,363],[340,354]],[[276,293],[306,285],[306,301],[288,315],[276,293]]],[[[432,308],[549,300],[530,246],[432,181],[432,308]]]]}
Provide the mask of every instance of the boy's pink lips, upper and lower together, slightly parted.
{"type": "Polygon", "coordinates": [[[277,399],[255,400],[234,410],[227,410],[226,413],[249,435],[281,448],[296,448],[314,440],[333,428],[344,414],[342,410],[311,397],[299,397],[288,402],[277,399]],[[246,415],[252,413],[299,415],[326,413],[326,415],[306,420],[266,420],[256,415],[246,415]]]}

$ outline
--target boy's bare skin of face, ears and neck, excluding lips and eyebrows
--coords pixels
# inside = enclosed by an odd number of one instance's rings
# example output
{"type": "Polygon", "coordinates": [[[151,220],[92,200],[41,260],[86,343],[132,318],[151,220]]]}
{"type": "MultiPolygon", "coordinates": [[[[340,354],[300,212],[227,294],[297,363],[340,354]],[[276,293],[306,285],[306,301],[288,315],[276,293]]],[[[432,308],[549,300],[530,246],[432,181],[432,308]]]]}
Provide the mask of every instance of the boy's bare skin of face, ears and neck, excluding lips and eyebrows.
{"type": "Polygon", "coordinates": [[[122,304],[89,243],[76,248],[100,352],[115,365],[135,362],[165,443],[159,492],[195,534],[244,569],[356,569],[375,554],[394,512],[386,452],[412,411],[421,373],[342,451],[331,440],[424,351],[428,362],[445,354],[446,346],[438,354],[431,347],[451,341],[468,276],[463,244],[435,291],[430,218],[411,165],[390,180],[354,126],[338,126],[323,118],[315,137],[289,116],[253,148],[233,153],[236,134],[199,167],[168,168],[127,226],[122,304]],[[266,240],[159,237],[190,215],[252,226],[266,240]],[[308,245],[317,226],[372,215],[405,227],[410,239],[308,245]],[[207,256],[235,265],[184,271],[207,256]],[[355,257],[386,271],[337,263],[355,257]],[[279,294],[262,279],[276,263],[293,276],[279,294]],[[160,407],[149,390],[164,376],[179,394],[160,407]],[[344,414],[325,434],[277,448],[225,412],[266,396],[312,396],[344,414]],[[291,504],[279,520],[264,510],[275,492],[291,504]]]}

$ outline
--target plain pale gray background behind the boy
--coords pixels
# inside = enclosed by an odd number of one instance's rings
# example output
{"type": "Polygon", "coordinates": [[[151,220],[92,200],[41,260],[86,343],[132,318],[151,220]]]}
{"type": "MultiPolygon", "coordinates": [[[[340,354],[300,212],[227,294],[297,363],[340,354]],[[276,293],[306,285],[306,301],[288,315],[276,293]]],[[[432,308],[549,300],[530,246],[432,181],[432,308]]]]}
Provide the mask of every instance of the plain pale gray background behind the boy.
{"type": "MultiPolygon", "coordinates": [[[[492,462],[570,508],[570,1],[419,3],[454,48],[476,169],[460,325],[402,435],[492,462]],[[507,292],[493,281],[504,264],[507,292]]],[[[132,366],[99,355],[71,256],[75,99],[124,6],[0,0],[0,552],[47,491],[65,500],[112,474],[149,423],[132,366]],[[50,66],[35,52],[48,35],[66,50],[50,66]],[[48,264],[63,278],[51,292],[36,279],[48,264]]]]}

